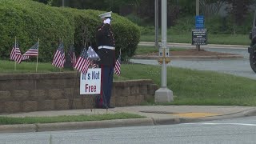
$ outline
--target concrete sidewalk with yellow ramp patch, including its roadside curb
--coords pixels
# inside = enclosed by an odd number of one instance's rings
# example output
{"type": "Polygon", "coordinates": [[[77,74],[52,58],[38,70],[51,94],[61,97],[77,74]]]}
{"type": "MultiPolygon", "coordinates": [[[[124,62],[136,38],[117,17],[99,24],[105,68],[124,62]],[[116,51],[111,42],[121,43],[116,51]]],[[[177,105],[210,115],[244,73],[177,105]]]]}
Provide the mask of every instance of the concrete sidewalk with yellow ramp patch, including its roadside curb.
{"type": "Polygon", "coordinates": [[[78,130],[118,126],[154,126],[200,122],[224,118],[256,115],[255,106],[127,106],[114,109],[36,111],[19,114],[2,114],[6,117],[40,117],[80,114],[114,114],[119,112],[139,114],[146,118],[116,119],[91,122],[58,122],[45,124],[2,125],[0,133],[39,132],[52,130],[78,130]]]}

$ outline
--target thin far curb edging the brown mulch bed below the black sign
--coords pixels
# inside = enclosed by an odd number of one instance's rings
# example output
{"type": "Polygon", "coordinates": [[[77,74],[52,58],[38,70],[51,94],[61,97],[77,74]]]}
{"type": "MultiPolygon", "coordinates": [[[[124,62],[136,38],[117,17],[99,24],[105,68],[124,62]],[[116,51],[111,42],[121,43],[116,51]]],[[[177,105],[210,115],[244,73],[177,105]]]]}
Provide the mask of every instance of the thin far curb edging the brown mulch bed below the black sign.
{"type": "MultiPolygon", "coordinates": [[[[160,58],[159,56],[148,56],[148,55],[135,55],[132,59],[155,59],[160,58]]],[[[198,60],[198,59],[231,59],[231,58],[243,58],[242,55],[211,55],[211,56],[170,56],[170,59],[187,59],[187,60],[198,60]]]]}

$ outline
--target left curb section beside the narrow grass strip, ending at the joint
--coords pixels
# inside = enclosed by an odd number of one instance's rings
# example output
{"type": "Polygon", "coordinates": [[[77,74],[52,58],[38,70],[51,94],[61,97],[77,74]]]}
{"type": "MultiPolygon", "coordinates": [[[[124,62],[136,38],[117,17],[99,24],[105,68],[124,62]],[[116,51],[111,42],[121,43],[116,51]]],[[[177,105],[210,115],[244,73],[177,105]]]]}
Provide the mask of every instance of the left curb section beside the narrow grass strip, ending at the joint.
{"type": "Polygon", "coordinates": [[[57,122],[40,124],[2,125],[0,126],[0,134],[58,130],[84,130],[121,126],[154,126],[154,120],[152,118],[131,118],[91,122],[57,122]]]}

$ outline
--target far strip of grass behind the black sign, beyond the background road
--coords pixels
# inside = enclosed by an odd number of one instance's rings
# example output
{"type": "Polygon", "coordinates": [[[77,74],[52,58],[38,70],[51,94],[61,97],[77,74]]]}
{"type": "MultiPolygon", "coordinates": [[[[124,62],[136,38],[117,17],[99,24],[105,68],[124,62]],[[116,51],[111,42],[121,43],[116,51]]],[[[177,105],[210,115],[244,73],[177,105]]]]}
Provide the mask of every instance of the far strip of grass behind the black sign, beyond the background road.
{"type": "MultiPolygon", "coordinates": [[[[249,35],[247,34],[208,34],[208,44],[225,44],[225,45],[250,45],[249,35]]],[[[167,42],[191,43],[192,34],[169,34],[167,42]]],[[[141,35],[141,42],[154,42],[154,35],[141,35]]],[[[159,36],[161,42],[161,35],[159,36]]]]}

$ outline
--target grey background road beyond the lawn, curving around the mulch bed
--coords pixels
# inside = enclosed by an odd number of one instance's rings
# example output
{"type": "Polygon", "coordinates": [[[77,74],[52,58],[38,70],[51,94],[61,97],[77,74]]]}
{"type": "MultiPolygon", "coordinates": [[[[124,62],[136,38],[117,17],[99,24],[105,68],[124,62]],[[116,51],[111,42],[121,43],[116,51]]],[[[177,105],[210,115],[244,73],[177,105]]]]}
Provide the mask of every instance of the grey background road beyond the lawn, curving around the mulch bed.
{"type": "MultiPolygon", "coordinates": [[[[244,58],[214,59],[214,60],[172,60],[167,66],[189,68],[194,70],[212,70],[220,73],[234,74],[256,79],[256,74],[250,68],[249,54],[245,47],[210,47],[204,50],[240,54],[244,58]]],[[[160,66],[157,60],[131,59],[130,62],[160,66]]]]}

